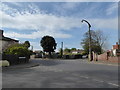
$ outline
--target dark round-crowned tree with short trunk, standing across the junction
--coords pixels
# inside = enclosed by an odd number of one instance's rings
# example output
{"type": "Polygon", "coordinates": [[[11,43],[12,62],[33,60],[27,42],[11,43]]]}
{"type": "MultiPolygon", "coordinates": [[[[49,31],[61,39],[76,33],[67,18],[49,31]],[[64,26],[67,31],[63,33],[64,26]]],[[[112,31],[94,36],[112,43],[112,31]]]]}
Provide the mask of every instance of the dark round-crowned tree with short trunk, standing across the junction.
{"type": "Polygon", "coordinates": [[[49,52],[50,57],[51,57],[51,52],[54,52],[57,46],[55,39],[51,36],[44,36],[41,39],[40,44],[44,52],[49,52]]]}

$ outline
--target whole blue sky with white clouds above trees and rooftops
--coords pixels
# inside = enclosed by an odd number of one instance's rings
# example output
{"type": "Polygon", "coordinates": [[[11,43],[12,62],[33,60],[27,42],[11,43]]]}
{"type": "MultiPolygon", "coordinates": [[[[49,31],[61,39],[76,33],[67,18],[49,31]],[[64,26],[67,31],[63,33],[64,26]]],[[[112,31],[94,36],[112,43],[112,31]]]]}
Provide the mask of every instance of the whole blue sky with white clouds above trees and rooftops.
{"type": "Polygon", "coordinates": [[[80,42],[88,31],[101,30],[108,37],[107,49],[118,41],[117,2],[4,2],[0,8],[4,36],[29,40],[34,50],[42,50],[40,40],[45,35],[53,36],[57,49],[61,42],[64,48],[82,48],[80,42]]]}

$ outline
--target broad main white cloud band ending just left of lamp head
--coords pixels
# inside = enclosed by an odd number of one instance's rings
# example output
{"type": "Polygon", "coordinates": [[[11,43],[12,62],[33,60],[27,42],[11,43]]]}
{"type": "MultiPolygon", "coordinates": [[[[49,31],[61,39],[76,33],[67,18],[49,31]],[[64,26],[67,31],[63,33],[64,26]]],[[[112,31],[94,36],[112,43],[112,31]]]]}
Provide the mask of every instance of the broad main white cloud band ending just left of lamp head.
{"type": "Polygon", "coordinates": [[[78,21],[74,18],[57,17],[48,14],[24,14],[15,17],[2,13],[2,27],[14,28],[19,30],[24,29],[49,29],[49,30],[68,30],[76,27],[73,21],[78,21]]]}

